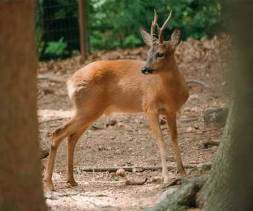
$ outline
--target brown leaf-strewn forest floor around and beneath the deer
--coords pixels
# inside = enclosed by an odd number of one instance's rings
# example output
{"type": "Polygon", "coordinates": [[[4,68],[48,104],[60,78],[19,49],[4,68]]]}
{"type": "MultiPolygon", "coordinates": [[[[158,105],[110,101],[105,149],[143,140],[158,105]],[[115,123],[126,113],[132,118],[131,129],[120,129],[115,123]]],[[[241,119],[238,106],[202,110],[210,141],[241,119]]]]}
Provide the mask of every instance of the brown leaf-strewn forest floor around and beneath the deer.
{"type": "MultiPolygon", "coordinates": [[[[100,59],[145,59],[146,52],[146,48],[100,51],[92,54],[86,63],[100,59]]],[[[182,42],[176,52],[180,71],[186,80],[201,80],[209,87],[203,89],[192,85],[190,98],[178,117],[179,145],[188,174],[193,174],[195,167],[210,163],[217,150],[217,146],[205,148],[203,143],[219,140],[222,128],[206,125],[203,116],[208,108],[228,104],[226,76],[229,74],[225,71],[228,68],[224,60],[228,52],[228,39],[224,35],[202,41],[189,39],[182,42]]],[[[80,67],[78,56],[39,65],[38,107],[42,148],[50,146],[48,133],[69,117],[71,107],[65,81],[80,67]]],[[[162,128],[168,143],[167,163],[172,167],[169,171],[172,180],[177,176],[175,160],[166,125],[163,124],[162,128]]],[[[158,147],[151,138],[143,114],[115,114],[110,120],[101,117],[83,134],[75,150],[74,175],[79,184],[76,187],[70,188],[65,183],[66,154],[66,142],[63,142],[58,150],[53,176],[56,191],[45,193],[47,204],[53,210],[142,210],[153,206],[163,192],[162,184],[155,181],[161,170],[140,172],[134,168],[161,165],[158,147]],[[120,177],[109,172],[86,172],[87,167],[133,167],[134,170],[120,177]],[[146,178],[147,182],[143,185],[125,184],[129,179],[146,178]]]]}

